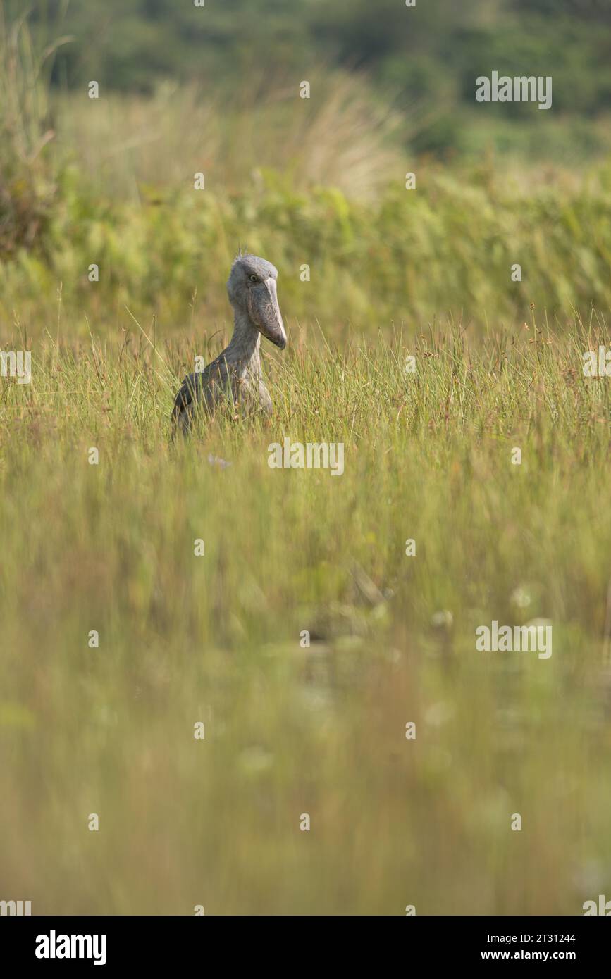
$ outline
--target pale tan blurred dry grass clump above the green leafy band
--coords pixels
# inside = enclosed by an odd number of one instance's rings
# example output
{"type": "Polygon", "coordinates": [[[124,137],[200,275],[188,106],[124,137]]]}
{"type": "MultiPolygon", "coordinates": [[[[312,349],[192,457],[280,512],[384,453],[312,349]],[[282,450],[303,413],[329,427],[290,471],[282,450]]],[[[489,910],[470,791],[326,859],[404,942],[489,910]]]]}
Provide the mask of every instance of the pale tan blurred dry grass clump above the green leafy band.
{"type": "Polygon", "coordinates": [[[215,89],[165,81],[151,98],[102,91],[57,100],[61,143],[92,193],[138,197],[138,188],[184,188],[204,171],[213,194],[239,193],[268,168],[301,192],[338,187],[370,200],[400,171],[407,119],[357,74],[314,67],[310,99],[295,75],[259,70],[215,89]]]}

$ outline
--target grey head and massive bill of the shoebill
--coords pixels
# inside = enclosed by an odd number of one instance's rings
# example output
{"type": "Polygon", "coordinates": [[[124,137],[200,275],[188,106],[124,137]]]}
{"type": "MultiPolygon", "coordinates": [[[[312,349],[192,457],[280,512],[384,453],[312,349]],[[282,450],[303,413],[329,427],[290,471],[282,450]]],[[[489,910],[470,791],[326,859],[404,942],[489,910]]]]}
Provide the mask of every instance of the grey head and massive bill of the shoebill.
{"type": "Polygon", "coordinates": [[[276,280],[278,269],[255,255],[239,255],[229,273],[229,302],[246,312],[258,332],[284,350],[287,337],[278,305],[276,280]]]}

